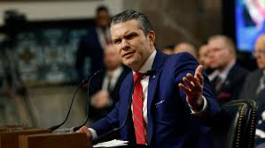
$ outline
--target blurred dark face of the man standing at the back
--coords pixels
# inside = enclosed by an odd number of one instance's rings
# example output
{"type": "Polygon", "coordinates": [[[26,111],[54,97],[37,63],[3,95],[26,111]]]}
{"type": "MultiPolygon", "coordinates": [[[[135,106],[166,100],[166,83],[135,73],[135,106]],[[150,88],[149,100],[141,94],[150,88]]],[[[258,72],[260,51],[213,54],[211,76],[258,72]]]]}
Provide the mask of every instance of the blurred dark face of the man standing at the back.
{"type": "Polygon", "coordinates": [[[97,13],[97,26],[106,28],[110,24],[110,18],[107,11],[98,11],[97,13]]]}

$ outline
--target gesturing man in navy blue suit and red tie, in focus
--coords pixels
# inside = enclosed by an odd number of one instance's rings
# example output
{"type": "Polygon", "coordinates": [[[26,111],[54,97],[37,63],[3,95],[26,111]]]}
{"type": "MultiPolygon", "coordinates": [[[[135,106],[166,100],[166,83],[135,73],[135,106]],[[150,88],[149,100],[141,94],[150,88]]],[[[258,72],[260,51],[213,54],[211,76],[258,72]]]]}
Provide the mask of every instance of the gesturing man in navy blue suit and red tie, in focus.
{"type": "Polygon", "coordinates": [[[165,55],[156,50],[150,21],[136,11],[117,14],[111,34],[122,63],[132,71],[121,84],[120,100],[113,110],[79,132],[92,140],[125,123],[121,140],[128,140],[130,145],[211,147],[212,139],[207,135],[211,128],[207,125],[219,107],[196,59],[188,53],[165,55]],[[155,70],[155,74],[139,78],[140,83],[135,80],[148,70],[155,70]]]}

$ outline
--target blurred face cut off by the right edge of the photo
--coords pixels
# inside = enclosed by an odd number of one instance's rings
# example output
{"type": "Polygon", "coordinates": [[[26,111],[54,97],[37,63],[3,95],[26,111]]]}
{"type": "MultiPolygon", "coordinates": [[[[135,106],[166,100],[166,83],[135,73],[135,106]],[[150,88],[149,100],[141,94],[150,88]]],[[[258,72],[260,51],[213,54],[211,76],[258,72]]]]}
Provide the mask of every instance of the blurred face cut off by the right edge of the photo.
{"type": "Polygon", "coordinates": [[[255,42],[253,55],[256,57],[259,69],[265,70],[265,34],[261,34],[255,42]]]}

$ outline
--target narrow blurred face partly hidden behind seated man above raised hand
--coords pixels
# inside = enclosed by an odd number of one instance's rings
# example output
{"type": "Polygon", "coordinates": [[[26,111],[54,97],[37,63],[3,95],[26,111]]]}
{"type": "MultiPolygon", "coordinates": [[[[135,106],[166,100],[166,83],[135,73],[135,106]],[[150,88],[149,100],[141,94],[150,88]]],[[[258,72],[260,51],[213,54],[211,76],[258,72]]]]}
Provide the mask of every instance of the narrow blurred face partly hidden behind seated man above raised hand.
{"type": "Polygon", "coordinates": [[[199,63],[202,64],[205,69],[208,68],[209,64],[208,51],[207,45],[203,45],[199,48],[199,63]]]}

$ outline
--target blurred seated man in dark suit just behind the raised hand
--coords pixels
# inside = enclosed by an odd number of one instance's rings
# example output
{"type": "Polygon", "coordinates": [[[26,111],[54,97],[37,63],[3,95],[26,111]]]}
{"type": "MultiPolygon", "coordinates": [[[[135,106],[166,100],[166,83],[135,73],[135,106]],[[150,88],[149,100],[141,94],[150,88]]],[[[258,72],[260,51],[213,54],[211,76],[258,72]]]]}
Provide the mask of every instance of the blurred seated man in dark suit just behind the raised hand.
{"type": "Polygon", "coordinates": [[[248,71],[236,63],[234,42],[224,35],[214,35],[208,40],[208,48],[209,67],[216,73],[210,85],[219,105],[238,100],[248,71]]]}

